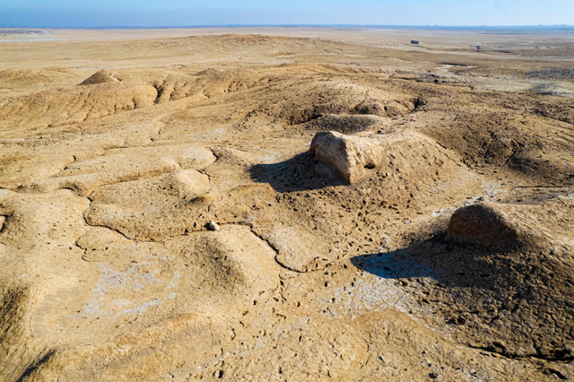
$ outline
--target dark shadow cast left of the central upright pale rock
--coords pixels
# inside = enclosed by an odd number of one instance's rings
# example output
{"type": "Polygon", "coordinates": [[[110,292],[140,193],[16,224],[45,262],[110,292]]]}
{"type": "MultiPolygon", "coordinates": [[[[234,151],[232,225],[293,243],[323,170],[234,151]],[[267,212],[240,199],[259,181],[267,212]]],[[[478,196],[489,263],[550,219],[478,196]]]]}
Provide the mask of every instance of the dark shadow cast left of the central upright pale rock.
{"type": "Polygon", "coordinates": [[[280,193],[346,185],[335,169],[310,152],[279,163],[257,164],[249,174],[257,183],[268,183],[280,193]]]}

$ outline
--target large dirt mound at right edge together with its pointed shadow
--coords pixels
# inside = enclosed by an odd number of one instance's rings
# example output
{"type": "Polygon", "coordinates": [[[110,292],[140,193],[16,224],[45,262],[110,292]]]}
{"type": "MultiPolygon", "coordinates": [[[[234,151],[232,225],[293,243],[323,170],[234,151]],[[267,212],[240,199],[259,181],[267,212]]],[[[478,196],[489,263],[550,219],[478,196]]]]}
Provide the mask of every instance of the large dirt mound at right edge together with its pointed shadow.
{"type": "Polygon", "coordinates": [[[455,338],[507,357],[571,360],[574,283],[574,200],[542,204],[472,204],[457,210],[448,235],[389,256],[353,261],[370,273],[425,273],[433,311],[455,338]]]}

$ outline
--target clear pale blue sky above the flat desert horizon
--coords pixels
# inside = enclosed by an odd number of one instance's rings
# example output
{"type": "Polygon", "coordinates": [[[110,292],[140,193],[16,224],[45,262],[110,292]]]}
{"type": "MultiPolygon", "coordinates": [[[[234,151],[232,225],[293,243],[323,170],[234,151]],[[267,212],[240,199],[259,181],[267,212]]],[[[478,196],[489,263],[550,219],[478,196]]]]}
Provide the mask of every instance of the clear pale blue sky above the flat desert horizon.
{"type": "Polygon", "coordinates": [[[0,26],[574,24],[574,0],[0,0],[0,26]]]}

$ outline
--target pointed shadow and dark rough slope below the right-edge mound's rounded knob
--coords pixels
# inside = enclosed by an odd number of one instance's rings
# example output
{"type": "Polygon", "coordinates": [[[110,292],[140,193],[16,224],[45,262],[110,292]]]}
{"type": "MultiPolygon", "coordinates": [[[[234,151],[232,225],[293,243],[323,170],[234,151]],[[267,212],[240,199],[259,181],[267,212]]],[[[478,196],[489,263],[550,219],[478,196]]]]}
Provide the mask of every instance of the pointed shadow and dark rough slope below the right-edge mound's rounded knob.
{"type": "Polygon", "coordinates": [[[567,347],[572,326],[556,324],[574,314],[572,265],[550,250],[496,251],[451,241],[443,232],[351,262],[364,272],[399,280],[413,300],[457,326],[474,347],[512,358],[524,356],[528,347],[536,358],[574,360],[567,347]],[[548,307],[552,316],[538,313],[548,307]],[[530,323],[527,331],[525,323],[530,323]]]}

